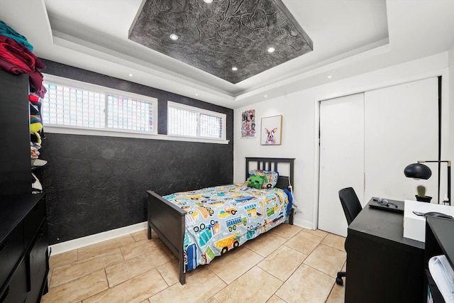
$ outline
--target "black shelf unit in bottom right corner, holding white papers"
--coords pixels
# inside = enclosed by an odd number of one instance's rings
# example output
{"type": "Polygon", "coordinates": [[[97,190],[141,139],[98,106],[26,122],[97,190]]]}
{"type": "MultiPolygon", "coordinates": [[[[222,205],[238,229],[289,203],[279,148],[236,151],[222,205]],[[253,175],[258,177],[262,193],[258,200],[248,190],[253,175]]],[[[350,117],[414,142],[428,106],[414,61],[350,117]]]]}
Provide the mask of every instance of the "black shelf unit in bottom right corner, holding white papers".
{"type": "Polygon", "coordinates": [[[445,255],[449,264],[454,268],[454,220],[438,217],[426,219],[426,249],[424,252],[424,280],[427,297],[431,295],[433,302],[444,303],[445,300],[428,270],[428,261],[434,255],[445,255]]]}

